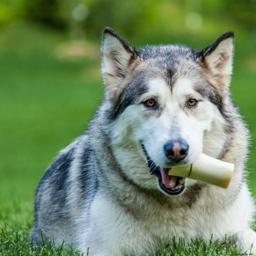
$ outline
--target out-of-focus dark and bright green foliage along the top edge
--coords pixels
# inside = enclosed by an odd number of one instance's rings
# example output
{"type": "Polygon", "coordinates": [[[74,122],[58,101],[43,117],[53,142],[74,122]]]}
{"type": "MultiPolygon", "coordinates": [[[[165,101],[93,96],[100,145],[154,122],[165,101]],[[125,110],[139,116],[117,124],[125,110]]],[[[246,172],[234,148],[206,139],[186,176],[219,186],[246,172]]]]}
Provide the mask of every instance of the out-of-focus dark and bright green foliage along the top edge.
{"type": "MultiPolygon", "coordinates": [[[[74,24],[81,25],[73,18],[73,11],[79,4],[84,4],[89,10],[82,29],[94,37],[98,37],[106,26],[124,35],[138,36],[141,30],[157,33],[159,29],[162,33],[166,30],[168,35],[175,27],[178,30],[183,28],[189,13],[196,13],[203,19],[204,33],[207,33],[204,19],[209,17],[251,32],[256,28],[256,0],[2,0],[0,26],[13,20],[27,19],[55,28],[74,29],[74,24]]],[[[214,23],[207,26],[214,26],[214,23]]]]}

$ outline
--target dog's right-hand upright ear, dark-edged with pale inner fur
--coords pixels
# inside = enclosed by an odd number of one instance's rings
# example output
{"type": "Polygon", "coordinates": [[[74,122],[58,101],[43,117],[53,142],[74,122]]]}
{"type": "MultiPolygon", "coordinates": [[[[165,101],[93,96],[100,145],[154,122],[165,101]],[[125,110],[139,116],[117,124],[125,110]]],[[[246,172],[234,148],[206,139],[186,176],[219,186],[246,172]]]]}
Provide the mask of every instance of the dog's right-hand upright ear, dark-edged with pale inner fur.
{"type": "Polygon", "coordinates": [[[229,85],[232,74],[233,49],[234,32],[229,31],[199,54],[204,67],[210,71],[210,76],[218,84],[229,85]]]}

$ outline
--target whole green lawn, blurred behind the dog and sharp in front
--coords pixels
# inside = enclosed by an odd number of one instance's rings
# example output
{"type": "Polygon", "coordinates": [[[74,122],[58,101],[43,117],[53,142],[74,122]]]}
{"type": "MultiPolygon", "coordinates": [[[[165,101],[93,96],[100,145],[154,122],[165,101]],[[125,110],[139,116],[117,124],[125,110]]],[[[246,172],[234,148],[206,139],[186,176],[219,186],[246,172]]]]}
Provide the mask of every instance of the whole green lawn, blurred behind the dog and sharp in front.
{"type": "MultiPolygon", "coordinates": [[[[67,34],[24,23],[1,28],[0,32],[0,255],[79,255],[65,244],[45,242],[35,248],[28,234],[34,221],[34,194],[44,170],[61,148],[86,130],[100,104],[100,44],[87,41],[81,46],[79,42],[71,43],[67,34]],[[77,49],[82,49],[82,56],[76,56],[77,49]]],[[[236,34],[231,88],[252,134],[256,134],[254,41],[241,30],[236,34]]],[[[145,38],[134,37],[131,41],[142,46],[147,42],[145,38]]],[[[180,42],[202,48],[203,38],[182,34],[180,42]]],[[[161,41],[158,35],[155,43],[157,40],[161,41]]],[[[163,43],[176,40],[164,37],[163,43]]],[[[252,140],[252,149],[255,146],[252,140]]],[[[256,156],[252,154],[248,170],[253,170],[255,164],[256,156]]],[[[256,196],[256,173],[250,173],[249,180],[256,196]]],[[[190,246],[180,240],[171,248],[164,243],[159,248],[154,255],[237,253],[228,243],[207,244],[200,239],[190,246]]]]}

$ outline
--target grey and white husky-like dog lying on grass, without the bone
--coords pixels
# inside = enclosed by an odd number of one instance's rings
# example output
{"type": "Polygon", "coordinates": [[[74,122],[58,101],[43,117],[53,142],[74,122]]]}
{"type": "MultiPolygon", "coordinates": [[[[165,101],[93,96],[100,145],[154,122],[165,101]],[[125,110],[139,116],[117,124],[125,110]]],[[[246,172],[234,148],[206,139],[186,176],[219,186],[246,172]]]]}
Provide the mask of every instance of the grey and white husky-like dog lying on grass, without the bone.
{"type": "MultiPolygon", "coordinates": [[[[204,50],[140,50],[103,33],[106,93],[90,127],[61,151],[36,192],[33,241],[90,255],[154,252],[161,239],[229,236],[256,252],[246,185],[248,131],[230,100],[234,33],[204,50]],[[169,176],[205,154],[235,164],[228,189],[169,176]],[[153,175],[152,175],[153,174],[153,175]]],[[[249,252],[248,251],[248,252],[249,252]]]]}

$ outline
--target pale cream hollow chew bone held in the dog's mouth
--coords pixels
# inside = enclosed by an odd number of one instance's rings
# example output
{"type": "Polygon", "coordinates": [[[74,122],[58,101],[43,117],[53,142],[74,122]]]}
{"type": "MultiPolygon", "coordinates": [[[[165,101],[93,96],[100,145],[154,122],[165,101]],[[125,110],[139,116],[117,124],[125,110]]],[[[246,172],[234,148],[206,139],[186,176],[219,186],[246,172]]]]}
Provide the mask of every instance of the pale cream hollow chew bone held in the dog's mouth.
{"type": "Polygon", "coordinates": [[[228,188],[233,172],[234,164],[201,153],[193,164],[172,167],[168,174],[228,188]]]}

